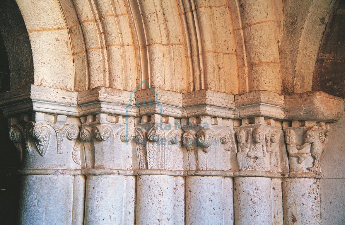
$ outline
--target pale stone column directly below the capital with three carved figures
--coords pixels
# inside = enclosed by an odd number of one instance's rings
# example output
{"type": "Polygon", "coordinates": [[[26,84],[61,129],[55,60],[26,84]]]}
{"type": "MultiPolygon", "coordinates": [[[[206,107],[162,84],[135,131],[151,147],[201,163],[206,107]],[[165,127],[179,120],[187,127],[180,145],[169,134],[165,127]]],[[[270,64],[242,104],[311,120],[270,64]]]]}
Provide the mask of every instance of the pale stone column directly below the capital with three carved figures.
{"type": "Polygon", "coordinates": [[[272,225],[271,178],[235,177],[234,214],[236,225],[272,225]]]}

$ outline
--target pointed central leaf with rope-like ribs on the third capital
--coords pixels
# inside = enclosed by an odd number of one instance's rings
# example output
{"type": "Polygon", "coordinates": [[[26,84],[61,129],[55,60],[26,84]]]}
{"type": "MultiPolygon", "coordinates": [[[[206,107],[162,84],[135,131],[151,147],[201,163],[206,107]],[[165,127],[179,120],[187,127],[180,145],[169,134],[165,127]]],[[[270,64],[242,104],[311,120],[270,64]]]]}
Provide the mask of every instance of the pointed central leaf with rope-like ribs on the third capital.
{"type": "Polygon", "coordinates": [[[164,130],[155,124],[147,135],[147,167],[148,169],[165,169],[165,143],[164,130]]]}

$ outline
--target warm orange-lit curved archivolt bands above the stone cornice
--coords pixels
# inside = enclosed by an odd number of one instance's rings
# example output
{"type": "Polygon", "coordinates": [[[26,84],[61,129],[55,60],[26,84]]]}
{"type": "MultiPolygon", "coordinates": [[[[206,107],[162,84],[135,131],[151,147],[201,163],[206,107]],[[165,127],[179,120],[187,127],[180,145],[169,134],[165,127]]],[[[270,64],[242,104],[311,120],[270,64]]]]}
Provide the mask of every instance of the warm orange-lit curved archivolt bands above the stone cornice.
{"type": "MultiPolygon", "coordinates": [[[[133,90],[145,80],[151,86],[178,92],[281,92],[280,70],[285,74],[284,86],[291,86],[289,76],[305,61],[296,57],[297,67],[289,66],[289,43],[295,43],[299,34],[291,31],[290,37],[289,29],[282,29],[283,16],[289,21],[294,11],[283,14],[279,1],[17,3],[30,38],[33,83],[37,85],[65,90],[97,86],[133,90]],[[284,57],[279,58],[278,43],[282,43],[284,57]]],[[[314,2],[309,9],[313,7],[317,8],[314,2]]],[[[310,31],[306,25],[312,19],[307,15],[299,48],[310,31]]],[[[297,76],[292,77],[290,80],[297,76]]]]}

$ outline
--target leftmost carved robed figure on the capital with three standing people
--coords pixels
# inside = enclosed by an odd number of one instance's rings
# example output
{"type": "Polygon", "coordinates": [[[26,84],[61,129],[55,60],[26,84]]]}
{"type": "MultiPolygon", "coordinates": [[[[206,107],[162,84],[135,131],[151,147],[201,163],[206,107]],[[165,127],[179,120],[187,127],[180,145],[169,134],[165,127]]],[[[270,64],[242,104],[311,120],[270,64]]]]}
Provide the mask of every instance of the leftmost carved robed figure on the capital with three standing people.
{"type": "MultiPolygon", "coordinates": [[[[252,131],[249,130],[249,135],[252,135],[252,131]]],[[[239,170],[251,170],[253,168],[252,162],[250,161],[250,158],[248,157],[247,153],[249,150],[249,135],[246,139],[246,133],[244,130],[238,130],[236,132],[237,137],[237,148],[238,152],[236,154],[237,163],[239,170]]]]}

